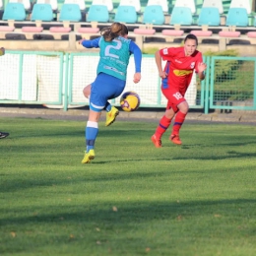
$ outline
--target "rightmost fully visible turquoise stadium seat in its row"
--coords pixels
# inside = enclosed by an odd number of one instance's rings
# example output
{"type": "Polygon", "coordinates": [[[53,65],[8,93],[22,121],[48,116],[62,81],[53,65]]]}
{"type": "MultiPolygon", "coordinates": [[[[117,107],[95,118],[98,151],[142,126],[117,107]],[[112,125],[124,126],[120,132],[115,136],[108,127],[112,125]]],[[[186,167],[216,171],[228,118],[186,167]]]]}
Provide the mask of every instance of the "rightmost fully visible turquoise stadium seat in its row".
{"type": "Polygon", "coordinates": [[[245,8],[229,8],[226,15],[226,26],[248,26],[248,14],[245,8]]]}

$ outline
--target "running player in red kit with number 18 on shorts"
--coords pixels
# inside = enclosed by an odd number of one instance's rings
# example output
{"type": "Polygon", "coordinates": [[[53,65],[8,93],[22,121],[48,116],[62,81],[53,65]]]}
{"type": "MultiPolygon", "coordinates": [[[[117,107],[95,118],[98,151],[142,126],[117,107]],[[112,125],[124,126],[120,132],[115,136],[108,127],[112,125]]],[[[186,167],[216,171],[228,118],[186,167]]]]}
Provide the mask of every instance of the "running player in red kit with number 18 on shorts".
{"type": "Polygon", "coordinates": [[[197,50],[198,39],[194,34],[188,34],[182,47],[168,47],[156,52],[156,63],[161,80],[161,92],[167,98],[167,105],[160,124],[152,136],[152,142],[157,148],[161,147],[161,136],[169,127],[172,118],[174,124],[170,141],[181,145],[179,130],[185,120],[189,105],[184,98],[191,82],[194,70],[200,80],[205,79],[204,71],[207,66],[203,63],[202,53],[197,50]],[[162,70],[161,60],[166,61],[162,70]]]}

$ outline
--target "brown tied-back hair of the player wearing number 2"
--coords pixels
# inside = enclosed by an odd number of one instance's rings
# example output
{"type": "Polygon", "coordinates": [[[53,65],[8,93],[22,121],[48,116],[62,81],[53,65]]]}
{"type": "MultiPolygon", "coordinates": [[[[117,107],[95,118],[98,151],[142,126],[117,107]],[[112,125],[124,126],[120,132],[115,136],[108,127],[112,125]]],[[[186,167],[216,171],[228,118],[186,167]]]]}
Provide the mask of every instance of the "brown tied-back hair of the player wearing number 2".
{"type": "Polygon", "coordinates": [[[105,41],[112,41],[119,35],[128,34],[128,29],[124,24],[113,23],[110,27],[102,29],[100,33],[103,35],[105,41]]]}

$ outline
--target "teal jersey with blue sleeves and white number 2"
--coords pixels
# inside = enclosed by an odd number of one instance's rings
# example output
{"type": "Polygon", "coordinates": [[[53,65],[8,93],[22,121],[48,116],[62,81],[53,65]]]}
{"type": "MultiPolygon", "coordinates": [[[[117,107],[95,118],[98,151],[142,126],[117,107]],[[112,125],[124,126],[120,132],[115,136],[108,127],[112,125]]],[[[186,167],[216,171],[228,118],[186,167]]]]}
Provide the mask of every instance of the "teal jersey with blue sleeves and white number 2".
{"type": "Polygon", "coordinates": [[[105,41],[103,36],[93,40],[84,40],[87,48],[99,47],[99,62],[96,73],[105,73],[121,80],[126,80],[129,58],[134,53],[135,72],[141,72],[141,49],[130,39],[118,36],[112,41],[105,41]]]}

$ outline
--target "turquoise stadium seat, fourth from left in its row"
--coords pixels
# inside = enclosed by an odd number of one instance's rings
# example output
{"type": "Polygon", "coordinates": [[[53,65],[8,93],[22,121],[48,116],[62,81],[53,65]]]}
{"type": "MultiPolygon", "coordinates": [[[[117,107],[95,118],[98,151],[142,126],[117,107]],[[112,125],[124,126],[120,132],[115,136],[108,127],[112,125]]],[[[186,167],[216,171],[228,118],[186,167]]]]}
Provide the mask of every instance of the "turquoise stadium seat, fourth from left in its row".
{"type": "Polygon", "coordinates": [[[88,22],[107,23],[109,13],[106,5],[91,5],[88,11],[88,22]]]}

